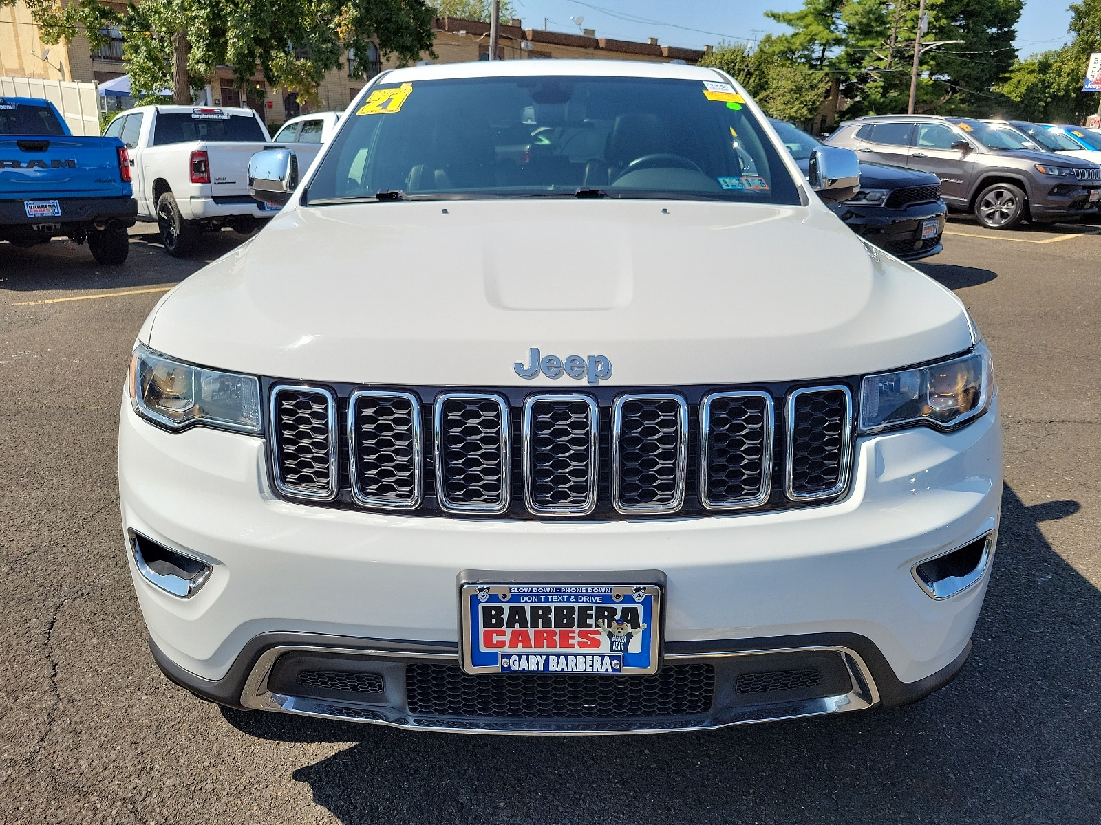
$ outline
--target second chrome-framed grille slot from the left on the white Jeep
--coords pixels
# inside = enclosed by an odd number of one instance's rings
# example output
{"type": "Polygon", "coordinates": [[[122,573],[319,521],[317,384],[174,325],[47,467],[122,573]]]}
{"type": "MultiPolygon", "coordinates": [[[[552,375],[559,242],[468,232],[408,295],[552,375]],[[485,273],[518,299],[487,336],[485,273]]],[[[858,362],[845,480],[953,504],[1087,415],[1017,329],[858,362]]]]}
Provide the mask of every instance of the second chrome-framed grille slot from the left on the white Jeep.
{"type": "MultiPolygon", "coordinates": [[[[378,405],[375,409],[382,406],[378,405]]],[[[378,414],[375,414],[378,416],[378,414]]],[[[348,466],[351,476],[351,494],[359,503],[368,507],[384,507],[386,509],[411,510],[421,506],[424,499],[424,437],[421,432],[421,400],[412,393],[359,389],[348,399],[348,466]],[[364,447],[364,430],[368,426],[360,420],[366,413],[363,406],[371,399],[379,399],[392,410],[389,420],[389,432],[374,430],[374,440],[385,443],[375,444],[374,457],[368,459],[362,454],[364,447]],[[408,413],[402,413],[401,407],[408,405],[408,413]],[[406,425],[404,420],[407,419],[406,425]],[[404,432],[403,432],[404,431],[404,432]],[[407,454],[407,458],[405,455],[407,454]],[[404,468],[402,465],[405,465],[404,468]],[[361,473],[371,466],[378,473],[386,475],[375,483],[374,495],[363,491],[361,473]],[[386,488],[400,491],[408,487],[406,495],[386,494],[386,488]]]]}

